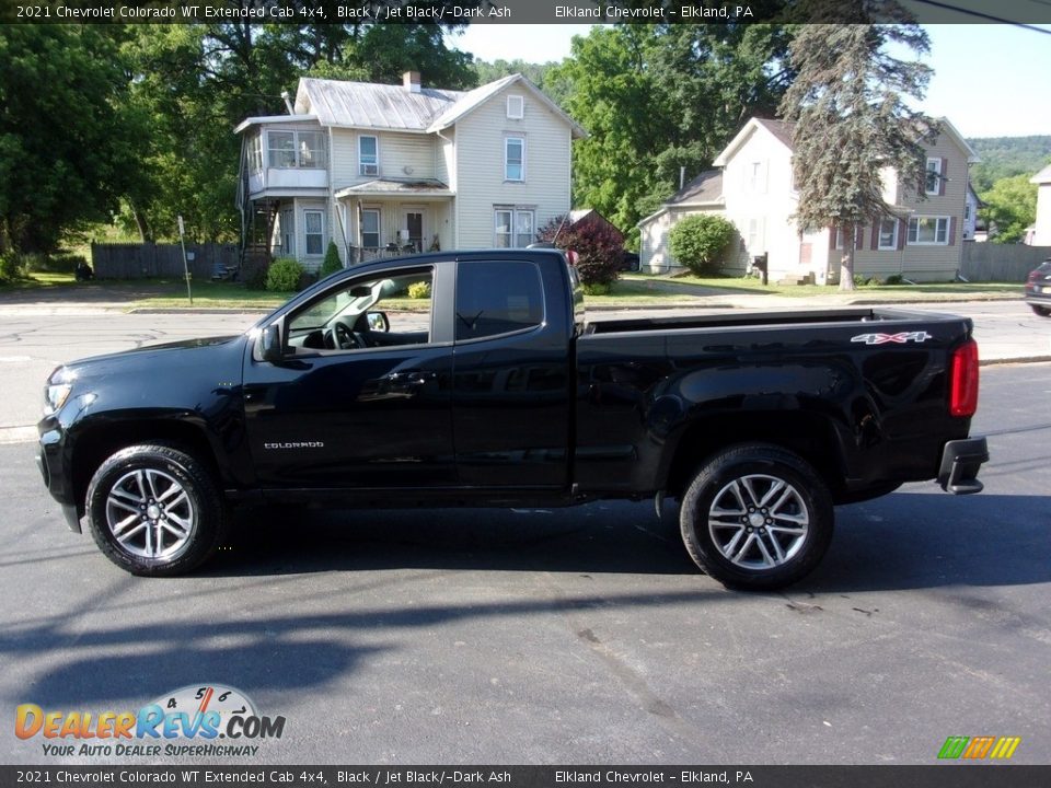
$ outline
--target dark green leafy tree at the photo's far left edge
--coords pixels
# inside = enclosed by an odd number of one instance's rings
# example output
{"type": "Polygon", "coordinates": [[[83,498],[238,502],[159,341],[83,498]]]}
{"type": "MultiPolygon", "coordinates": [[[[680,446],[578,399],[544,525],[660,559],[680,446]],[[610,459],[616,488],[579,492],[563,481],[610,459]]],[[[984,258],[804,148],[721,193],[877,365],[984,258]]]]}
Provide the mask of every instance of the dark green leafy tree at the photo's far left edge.
{"type": "Polygon", "coordinates": [[[51,252],[140,177],[117,48],[94,25],[0,25],[0,254],[51,252]]]}

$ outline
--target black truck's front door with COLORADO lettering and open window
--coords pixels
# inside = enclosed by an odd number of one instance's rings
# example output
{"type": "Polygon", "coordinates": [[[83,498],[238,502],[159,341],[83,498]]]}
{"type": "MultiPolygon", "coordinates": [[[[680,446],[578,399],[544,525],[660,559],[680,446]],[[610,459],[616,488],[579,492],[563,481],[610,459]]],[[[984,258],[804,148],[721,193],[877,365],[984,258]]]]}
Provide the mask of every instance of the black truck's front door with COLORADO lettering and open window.
{"type": "MultiPolygon", "coordinates": [[[[267,488],[455,484],[451,328],[431,294],[452,266],[345,279],[281,321],[282,357],[249,359],[245,418],[267,488]]],[[[451,297],[451,292],[450,292],[451,297]]]]}

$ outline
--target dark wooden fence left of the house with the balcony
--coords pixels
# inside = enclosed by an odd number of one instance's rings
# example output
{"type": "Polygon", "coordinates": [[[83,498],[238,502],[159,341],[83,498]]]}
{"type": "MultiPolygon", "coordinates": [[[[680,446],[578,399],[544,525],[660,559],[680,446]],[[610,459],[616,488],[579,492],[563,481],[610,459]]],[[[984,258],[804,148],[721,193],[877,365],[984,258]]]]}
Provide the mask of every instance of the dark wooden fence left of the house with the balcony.
{"type": "MultiPolygon", "coordinates": [[[[189,273],[208,280],[220,266],[236,267],[236,244],[186,244],[189,273]]],[[[91,245],[91,267],[99,279],[145,279],[183,276],[183,250],[178,244],[91,245]]]]}

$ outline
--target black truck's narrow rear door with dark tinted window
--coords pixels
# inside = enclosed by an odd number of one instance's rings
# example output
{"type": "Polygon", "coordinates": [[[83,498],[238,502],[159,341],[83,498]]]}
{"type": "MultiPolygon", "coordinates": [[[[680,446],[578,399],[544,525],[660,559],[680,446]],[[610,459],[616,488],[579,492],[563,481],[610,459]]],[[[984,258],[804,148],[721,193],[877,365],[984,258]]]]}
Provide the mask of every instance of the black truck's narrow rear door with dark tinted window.
{"type": "Polygon", "coordinates": [[[457,263],[452,421],[461,485],[568,484],[571,326],[548,312],[541,268],[524,256],[457,263]]]}

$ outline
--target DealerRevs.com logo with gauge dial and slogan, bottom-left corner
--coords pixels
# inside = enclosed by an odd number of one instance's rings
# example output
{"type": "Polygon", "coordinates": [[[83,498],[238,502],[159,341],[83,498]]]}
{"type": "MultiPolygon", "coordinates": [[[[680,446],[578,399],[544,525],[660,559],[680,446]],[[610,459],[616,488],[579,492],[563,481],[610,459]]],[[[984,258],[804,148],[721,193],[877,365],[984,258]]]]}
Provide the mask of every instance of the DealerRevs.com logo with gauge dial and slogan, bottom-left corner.
{"type": "Polygon", "coordinates": [[[138,711],[45,710],[22,704],[15,709],[14,733],[42,739],[47,756],[254,756],[259,745],[252,742],[280,739],[285,718],[258,714],[240,690],[207,684],[181,687],[138,711]]]}

